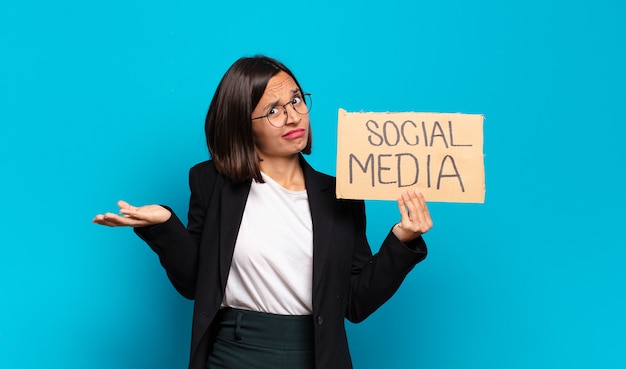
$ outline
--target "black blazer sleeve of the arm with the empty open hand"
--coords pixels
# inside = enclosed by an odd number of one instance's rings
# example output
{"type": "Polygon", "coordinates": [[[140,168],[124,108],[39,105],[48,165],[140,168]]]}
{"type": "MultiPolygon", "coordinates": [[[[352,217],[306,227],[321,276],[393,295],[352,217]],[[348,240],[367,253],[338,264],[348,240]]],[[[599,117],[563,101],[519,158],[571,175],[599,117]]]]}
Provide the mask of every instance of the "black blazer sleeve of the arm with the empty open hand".
{"type": "MultiPolygon", "coordinates": [[[[206,218],[207,204],[204,191],[212,189],[207,183],[209,176],[203,165],[199,164],[189,171],[189,213],[187,228],[178,216],[172,213],[166,222],[137,227],[135,233],[159,256],[159,261],[176,290],[188,299],[195,298],[196,279],[198,274],[198,248],[201,241],[203,225],[206,218]]],[[[215,178],[215,177],[213,177],[215,178]]]]}

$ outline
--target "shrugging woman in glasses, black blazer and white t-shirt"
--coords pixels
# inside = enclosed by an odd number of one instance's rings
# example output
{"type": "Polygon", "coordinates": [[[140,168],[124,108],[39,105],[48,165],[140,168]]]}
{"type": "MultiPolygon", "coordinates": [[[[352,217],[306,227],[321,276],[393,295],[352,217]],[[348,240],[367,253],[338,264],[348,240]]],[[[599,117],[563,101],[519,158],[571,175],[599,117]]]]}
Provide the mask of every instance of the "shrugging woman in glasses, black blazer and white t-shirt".
{"type": "Polygon", "coordinates": [[[209,107],[212,160],[190,170],[187,228],[168,207],[124,201],[94,218],[134,227],[195,299],[189,368],[352,368],[344,319],[373,313],[426,257],[432,221],[417,190],[401,194],[372,255],[363,201],[336,199],[335,179],[302,156],[309,109],[283,64],[239,59],[209,107]]]}

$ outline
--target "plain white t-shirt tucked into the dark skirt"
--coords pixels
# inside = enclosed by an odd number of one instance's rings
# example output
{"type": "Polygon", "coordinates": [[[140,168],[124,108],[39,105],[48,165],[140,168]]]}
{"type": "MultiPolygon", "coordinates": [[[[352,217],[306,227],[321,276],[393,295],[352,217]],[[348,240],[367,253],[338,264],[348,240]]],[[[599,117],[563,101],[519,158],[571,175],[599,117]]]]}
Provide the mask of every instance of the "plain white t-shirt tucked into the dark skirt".
{"type": "Polygon", "coordinates": [[[281,315],[312,312],[313,225],[306,190],[266,174],[252,181],[223,306],[281,315]]]}

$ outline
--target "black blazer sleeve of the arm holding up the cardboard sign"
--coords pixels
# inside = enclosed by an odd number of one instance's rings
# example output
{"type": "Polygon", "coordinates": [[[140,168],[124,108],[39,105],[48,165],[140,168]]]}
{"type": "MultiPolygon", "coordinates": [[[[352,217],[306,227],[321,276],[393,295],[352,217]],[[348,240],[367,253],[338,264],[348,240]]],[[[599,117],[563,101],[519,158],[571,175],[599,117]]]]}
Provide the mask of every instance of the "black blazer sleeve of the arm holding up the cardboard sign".
{"type": "Polygon", "coordinates": [[[398,290],[406,275],[427,254],[422,237],[403,243],[389,231],[379,251],[372,254],[365,235],[365,205],[352,203],[355,246],[346,318],[358,323],[371,315],[398,290]]]}

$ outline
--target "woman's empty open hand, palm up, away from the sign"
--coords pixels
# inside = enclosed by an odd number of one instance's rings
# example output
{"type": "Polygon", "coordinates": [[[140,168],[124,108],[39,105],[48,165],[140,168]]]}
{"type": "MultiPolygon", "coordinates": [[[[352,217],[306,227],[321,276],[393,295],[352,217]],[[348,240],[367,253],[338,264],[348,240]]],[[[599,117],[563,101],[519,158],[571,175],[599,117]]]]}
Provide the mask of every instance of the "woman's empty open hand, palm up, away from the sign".
{"type": "Polygon", "coordinates": [[[118,201],[120,214],[98,214],[93,222],[109,227],[145,227],[165,222],[172,213],[160,205],[131,206],[126,201],[118,201]]]}

